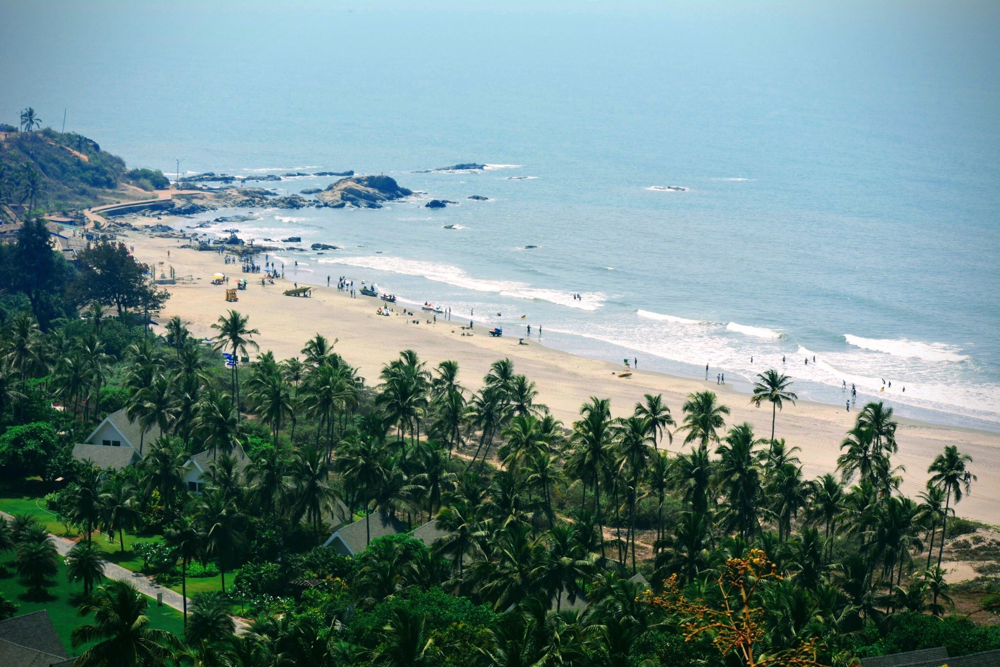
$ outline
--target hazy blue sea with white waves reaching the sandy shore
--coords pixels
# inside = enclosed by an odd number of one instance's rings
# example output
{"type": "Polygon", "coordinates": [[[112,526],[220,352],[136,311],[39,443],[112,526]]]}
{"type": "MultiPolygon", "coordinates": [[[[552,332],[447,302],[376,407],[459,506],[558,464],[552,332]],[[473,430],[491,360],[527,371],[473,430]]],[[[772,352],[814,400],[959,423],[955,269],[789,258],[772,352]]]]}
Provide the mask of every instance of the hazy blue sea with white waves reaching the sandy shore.
{"type": "Polygon", "coordinates": [[[1000,428],[996,4],[5,3],[0,26],[4,120],[68,107],[130,165],[459,202],[235,225],[344,246],[281,253],[299,282],[1000,428]],[[499,166],[414,173],[460,162],[499,166]]]}

